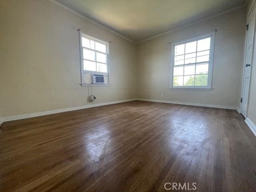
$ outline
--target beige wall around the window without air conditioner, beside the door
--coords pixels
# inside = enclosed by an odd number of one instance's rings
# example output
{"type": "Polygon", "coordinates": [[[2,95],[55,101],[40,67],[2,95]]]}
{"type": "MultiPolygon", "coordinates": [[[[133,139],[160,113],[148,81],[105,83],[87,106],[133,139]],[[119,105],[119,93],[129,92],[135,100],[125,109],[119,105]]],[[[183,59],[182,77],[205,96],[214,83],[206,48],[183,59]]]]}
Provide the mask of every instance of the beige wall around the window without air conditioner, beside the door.
{"type": "Polygon", "coordinates": [[[138,97],[238,106],[243,64],[246,9],[241,8],[138,44],[138,97]],[[170,90],[171,46],[218,30],[215,35],[212,91],[170,90]],[[164,98],[160,98],[164,94],[164,98]]]}

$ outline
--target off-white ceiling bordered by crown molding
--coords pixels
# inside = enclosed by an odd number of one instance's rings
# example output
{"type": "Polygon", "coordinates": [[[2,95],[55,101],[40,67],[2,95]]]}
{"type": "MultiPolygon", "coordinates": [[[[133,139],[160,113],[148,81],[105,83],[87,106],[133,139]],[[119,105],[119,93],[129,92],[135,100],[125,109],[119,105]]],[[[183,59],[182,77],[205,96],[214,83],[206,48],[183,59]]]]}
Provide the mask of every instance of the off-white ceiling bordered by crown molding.
{"type": "Polygon", "coordinates": [[[246,0],[56,1],[134,42],[140,42],[246,3],[246,0]]]}

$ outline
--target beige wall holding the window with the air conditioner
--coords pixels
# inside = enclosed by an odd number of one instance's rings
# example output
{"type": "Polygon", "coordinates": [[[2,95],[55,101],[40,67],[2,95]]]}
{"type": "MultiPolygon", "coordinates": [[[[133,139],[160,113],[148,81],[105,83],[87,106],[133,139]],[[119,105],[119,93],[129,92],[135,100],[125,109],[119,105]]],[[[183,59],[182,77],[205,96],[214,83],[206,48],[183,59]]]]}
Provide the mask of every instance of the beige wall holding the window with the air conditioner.
{"type": "Polygon", "coordinates": [[[112,41],[109,87],[95,103],[136,97],[136,45],[48,0],[0,0],[0,116],[88,104],[77,28],[112,41]]]}

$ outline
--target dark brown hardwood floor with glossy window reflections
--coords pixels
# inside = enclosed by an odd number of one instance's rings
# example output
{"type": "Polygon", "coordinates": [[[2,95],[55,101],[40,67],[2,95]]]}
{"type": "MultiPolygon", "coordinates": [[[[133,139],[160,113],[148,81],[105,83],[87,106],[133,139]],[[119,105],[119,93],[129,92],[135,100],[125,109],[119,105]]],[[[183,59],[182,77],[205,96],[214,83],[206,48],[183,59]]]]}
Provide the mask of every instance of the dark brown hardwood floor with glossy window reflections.
{"type": "Polygon", "coordinates": [[[166,182],[256,191],[256,138],[244,118],[132,101],[1,126],[0,192],[167,192],[166,182]]]}

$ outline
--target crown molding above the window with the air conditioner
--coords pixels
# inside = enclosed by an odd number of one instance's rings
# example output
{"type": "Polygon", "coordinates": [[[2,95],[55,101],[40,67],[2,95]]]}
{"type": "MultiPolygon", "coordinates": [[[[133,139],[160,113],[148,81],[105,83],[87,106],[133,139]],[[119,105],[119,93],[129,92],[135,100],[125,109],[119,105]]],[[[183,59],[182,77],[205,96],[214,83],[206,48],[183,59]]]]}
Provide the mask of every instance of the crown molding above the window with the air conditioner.
{"type": "Polygon", "coordinates": [[[106,29],[106,30],[108,30],[108,31],[110,31],[110,32],[112,32],[112,33],[114,33],[114,34],[116,34],[116,35],[118,35],[118,36],[120,36],[120,37],[122,37],[122,38],[124,38],[124,39],[126,39],[126,40],[128,40],[128,41],[130,41],[132,43],[134,43],[134,44],[136,44],[136,42],[134,42],[133,40],[130,40],[129,38],[127,38],[127,37],[125,37],[125,36],[115,32],[113,30],[111,30],[110,28],[107,28],[106,26],[104,26],[104,25],[102,25],[102,24],[100,24],[100,23],[98,23],[98,22],[96,22],[96,21],[94,21],[94,20],[92,20],[92,19],[90,19],[90,18],[88,18],[88,17],[86,17],[86,16],[76,12],[75,10],[67,7],[66,5],[64,5],[64,4],[62,4],[62,3],[60,3],[60,2],[58,2],[56,0],[49,0],[49,1],[54,3],[54,4],[56,4],[56,5],[58,5],[58,6],[60,6],[60,7],[62,7],[62,8],[64,8],[64,9],[66,9],[66,10],[68,10],[68,11],[70,11],[70,12],[72,12],[72,13],[74,13],[74,14],[76,14],[77,16],[80,16],[80,17],[82,17],[82,18],[92,22],[93,24],[96,24],[97,26],[100,26],[100,27],[102,27],[102,28],[104,28],[104,29],[106,29]]]}

